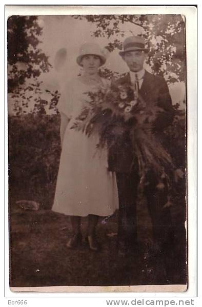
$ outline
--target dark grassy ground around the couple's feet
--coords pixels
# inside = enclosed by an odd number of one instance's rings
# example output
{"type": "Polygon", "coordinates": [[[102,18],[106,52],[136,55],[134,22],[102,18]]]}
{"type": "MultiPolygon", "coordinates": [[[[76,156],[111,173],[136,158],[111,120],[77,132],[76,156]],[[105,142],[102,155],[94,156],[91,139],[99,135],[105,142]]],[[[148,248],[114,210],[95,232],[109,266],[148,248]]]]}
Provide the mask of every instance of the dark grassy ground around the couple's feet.
{"type": "MultiPolygon", "coordinates": [[[[175,213],[175,218],[176,218],[175,213]]],[[[85,232],[87,220],[82,221],[85,232]]],[[[176,223],[177,224],[177,223],[176,223]]],[[[51,210],[28,211],[10,201],[10,285],[140,285],[186,283],[185,247],[180,229],[166,255],[154,256],[151,221],[145,202],[138,204],[138,246],[119,257],[116,250],[117,213],[100,219],[99,253],[85,245],[66,248],[71,227],[65,215],[51,210]]]]}

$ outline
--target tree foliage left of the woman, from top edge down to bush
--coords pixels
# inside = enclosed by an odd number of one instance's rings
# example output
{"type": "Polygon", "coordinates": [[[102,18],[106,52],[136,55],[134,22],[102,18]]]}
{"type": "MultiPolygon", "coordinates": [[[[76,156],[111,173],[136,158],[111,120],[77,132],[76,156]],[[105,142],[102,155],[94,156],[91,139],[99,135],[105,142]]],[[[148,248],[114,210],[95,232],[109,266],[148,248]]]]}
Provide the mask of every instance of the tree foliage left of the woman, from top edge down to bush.
{"type": "Polygon", "coordinates": [[[32,102],[34,108],[31,113],[46,114],[45,107],[55,109],[59,99],[58,91],[49,94],[49,101],[43,99],[38,80],[41,73],[51,68],[48,56],[39,49],[39,37],[42,27],[38,25],[37,16],[11,16],[8,19],[8,93],[14,99],[14,114],[21,116],[29,113],[32,102]],[[29,111],[27,111],[29,110],[29,111]]]}

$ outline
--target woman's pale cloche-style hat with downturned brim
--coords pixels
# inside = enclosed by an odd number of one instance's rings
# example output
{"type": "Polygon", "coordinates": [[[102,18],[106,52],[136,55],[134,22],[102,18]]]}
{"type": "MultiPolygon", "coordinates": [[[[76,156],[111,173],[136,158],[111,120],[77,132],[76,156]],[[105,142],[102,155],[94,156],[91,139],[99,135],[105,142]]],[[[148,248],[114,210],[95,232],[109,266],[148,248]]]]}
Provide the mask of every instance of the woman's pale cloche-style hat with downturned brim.
{"type": "Polygon", "coordinates": [[[82,66],[82,57],[84,55],[97,55],[100,58],[100,66],[104,65],[106,62],[106,56],[104,51],[95,43],[86,43],[80,47],[79,55],[76,59],[78,65],[82,66]]]}

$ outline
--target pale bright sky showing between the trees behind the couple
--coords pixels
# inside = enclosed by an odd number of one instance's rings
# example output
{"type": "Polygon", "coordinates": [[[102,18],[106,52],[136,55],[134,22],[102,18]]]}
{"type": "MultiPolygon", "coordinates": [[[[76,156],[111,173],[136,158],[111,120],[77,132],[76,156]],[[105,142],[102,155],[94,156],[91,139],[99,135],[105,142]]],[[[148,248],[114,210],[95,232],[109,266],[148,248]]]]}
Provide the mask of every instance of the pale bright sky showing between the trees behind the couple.
{"type": "MultiPolygon", "coordinates": [[[[80,68],[76,64],[76,57],[82,44],[96,42],[101,47],[105,47],[109,42],[106,37],[94,38],[91,36],[96,29],[95,25],[87,21],[79,21],[70,15],[39,16],[38,23],[43,28],[43,34],[40,37],[42,43],[39,48],[49,56],[49,62],[53,66],[49,73],[42,73],[40,76],[43,81],[42,91],[44,92],[46,89],[59,90],[65,80],[77,76],[80,68]]],[[[125,36],[121,37],[119,35],[120,40],[130,36],[130,31],[134,35],[142,33],[142,28],[139,26],[131,25],[129,28],[126,23],[121,26],[122,28],[119,29],[125,31],[125,36]]],[[[114,50],[109,54],[105,66],[119,73],[128,71],[125,62],[118,54],[118,50],[114,50]]],[[[146,69],[149,69],[149,67],[146,67],[146,69]]],[[[185,86],[184,84],[171,85],[170,92],[173,103],[176,103],[179,100],[183,100],[185,86]]],[[[45,95],[42,96],[43,99],[46,99],[45,95]]],[[[9,101],[9,106],[11,110],[11,101],[9,101]]]]}

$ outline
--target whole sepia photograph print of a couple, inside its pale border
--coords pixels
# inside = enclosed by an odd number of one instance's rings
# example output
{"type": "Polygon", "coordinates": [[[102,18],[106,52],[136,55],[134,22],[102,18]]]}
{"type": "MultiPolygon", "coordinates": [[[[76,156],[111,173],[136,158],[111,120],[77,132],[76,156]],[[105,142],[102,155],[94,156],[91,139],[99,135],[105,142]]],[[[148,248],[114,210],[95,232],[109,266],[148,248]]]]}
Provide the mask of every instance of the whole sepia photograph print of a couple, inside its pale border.
{"type": "Polygon", "coordinates": [[[187,289],[185,29],[181,14],[8,18],[14,291],[187,289]]]}

